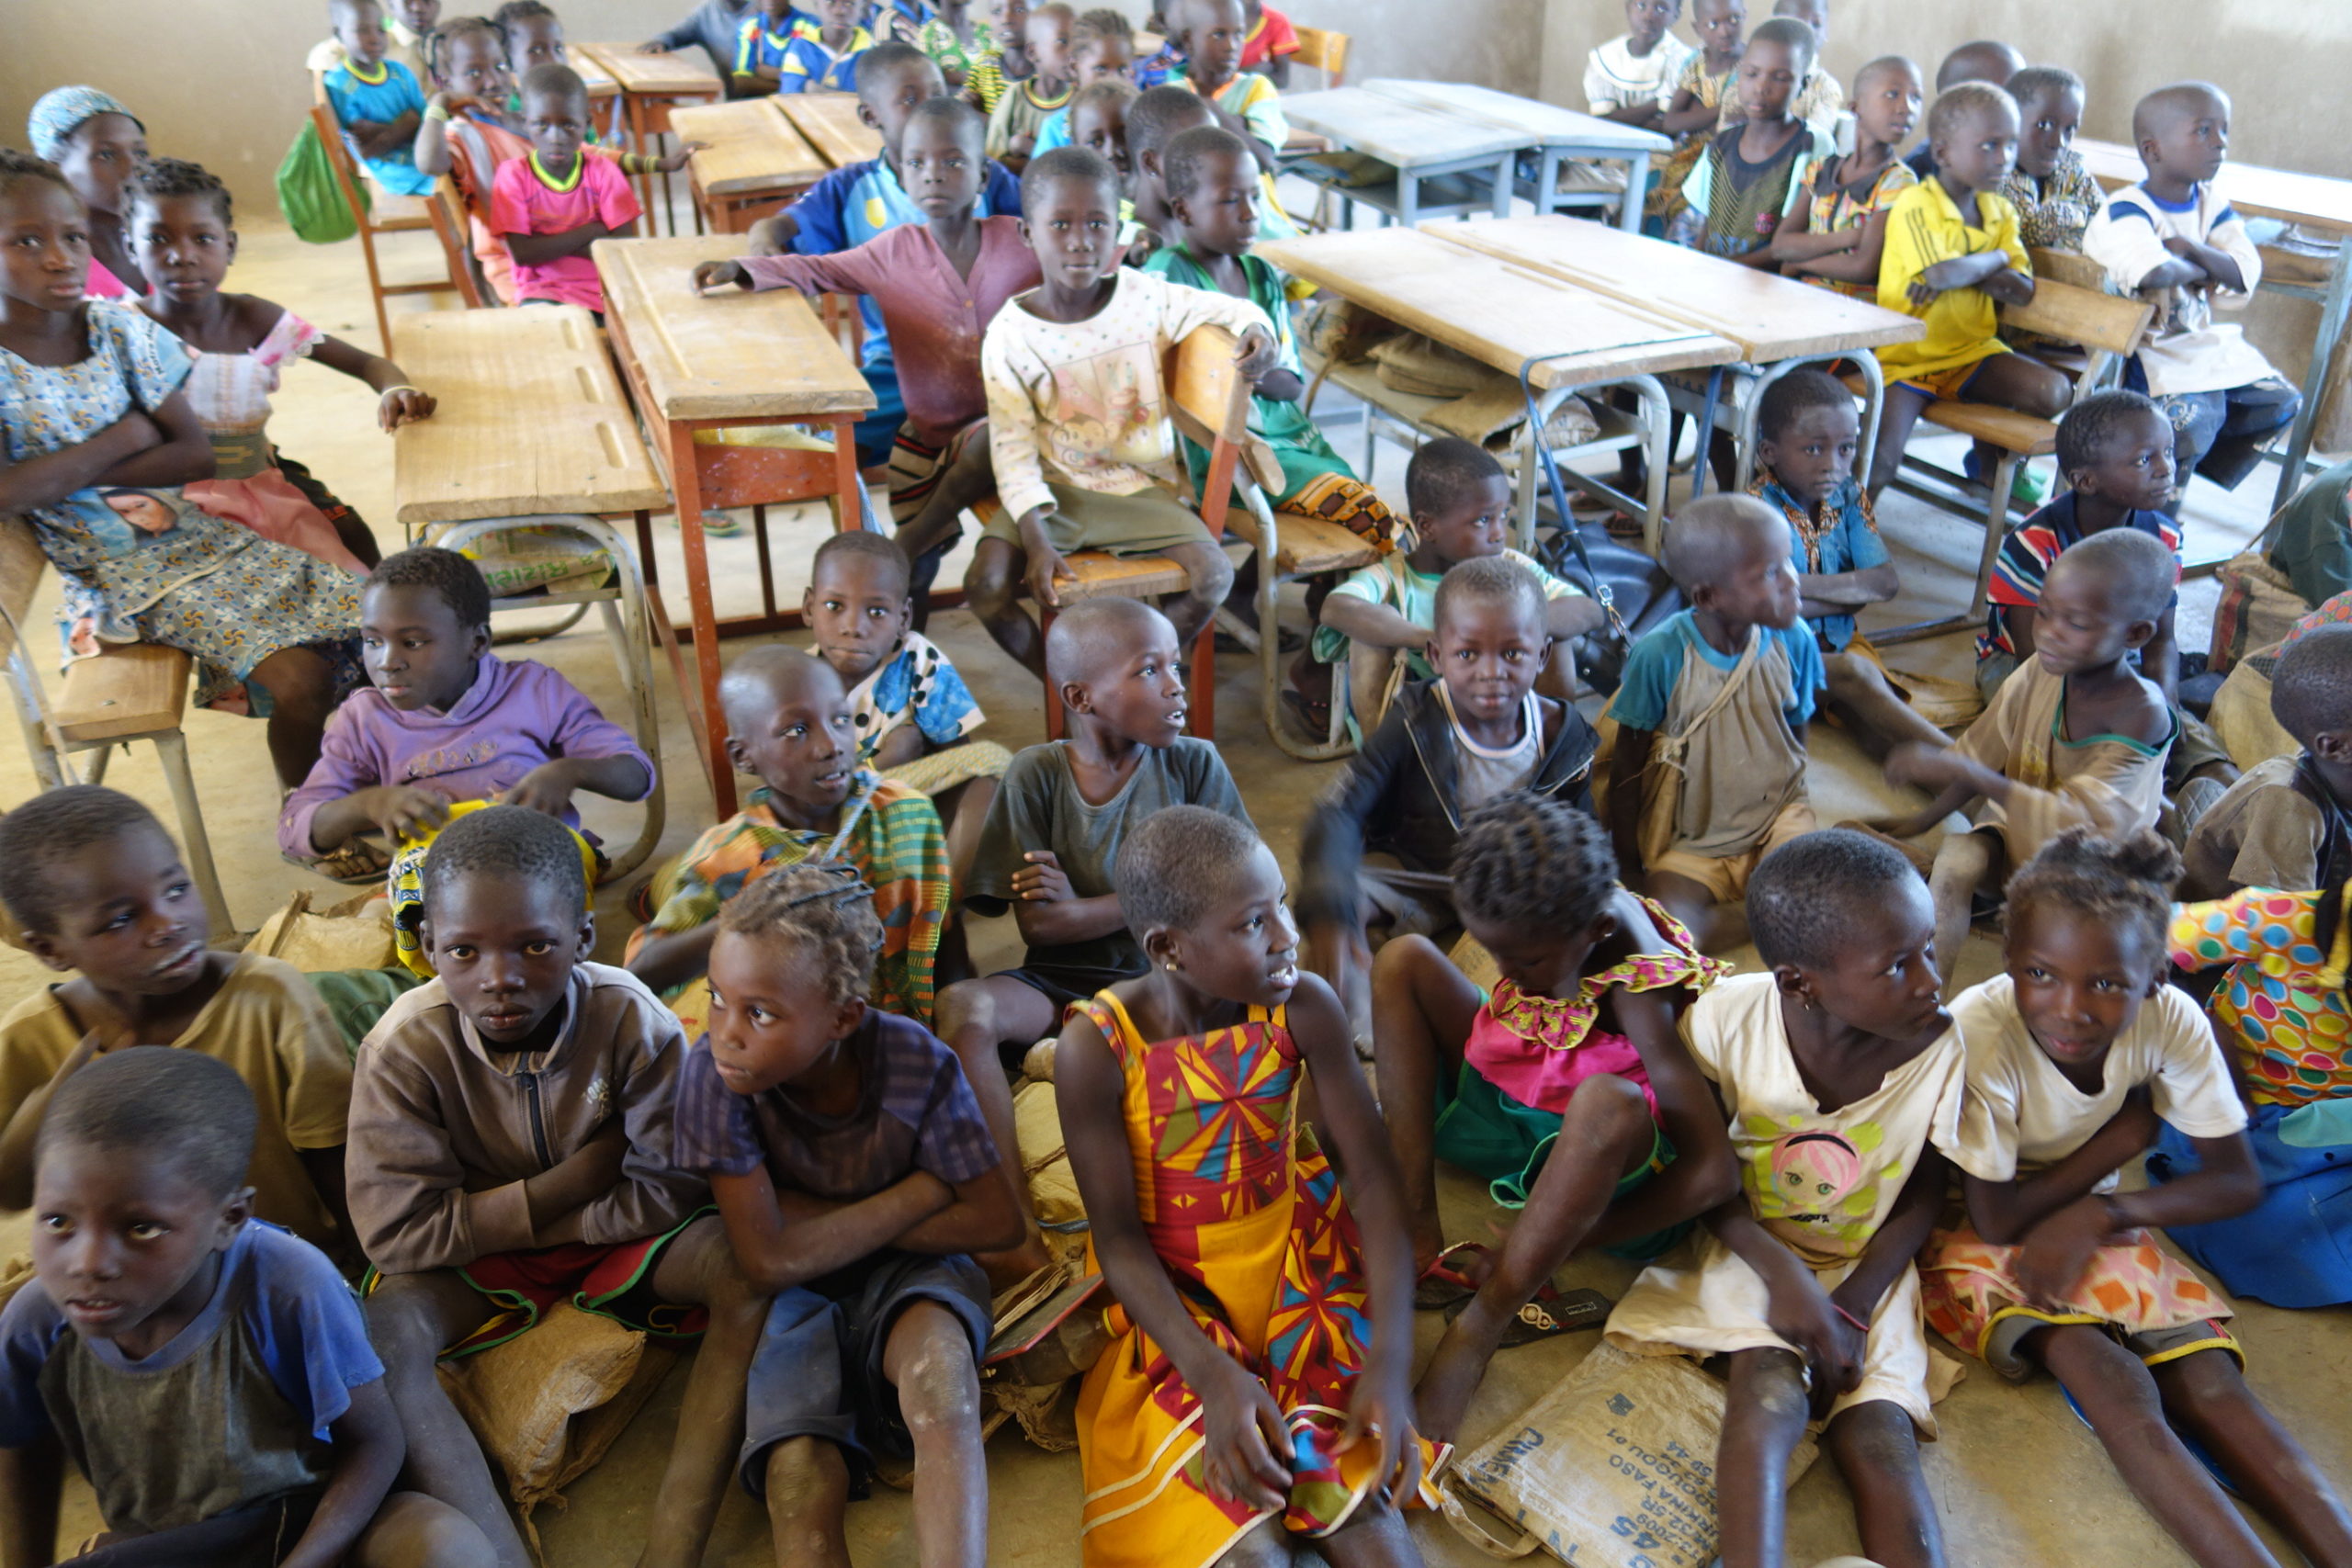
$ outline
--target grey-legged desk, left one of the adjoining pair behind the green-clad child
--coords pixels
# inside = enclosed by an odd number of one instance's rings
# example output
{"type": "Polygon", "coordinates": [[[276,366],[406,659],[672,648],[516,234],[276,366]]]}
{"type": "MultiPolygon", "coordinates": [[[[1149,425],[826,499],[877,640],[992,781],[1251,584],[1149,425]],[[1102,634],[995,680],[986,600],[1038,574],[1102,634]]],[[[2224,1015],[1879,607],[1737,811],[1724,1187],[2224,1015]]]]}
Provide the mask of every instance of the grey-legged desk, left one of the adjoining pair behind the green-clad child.
{"type": "MultiPolygon", "coordinates": [[[[1632,388],[1639,395],[1639,416],[1625,421],[1616,409],[1602,411],[1604,433],[1611,423],[1630,430],[1578,447],[1573,454],[1630,444],[1651,451],[1646,536],[1656,552],[1668,435],[1665,390],[1656,376],[1729,364],[1740,357],[1738,343],[1566,277],[1449,244],[1421,228],[1305,235],[1265,242],[1256,252],[1277,268],[1376,310],[1399,327],[1425,331],[1482,364],[1526,378],[1538,393],[1538,421],[1522,423],[1517,437],[1522,545],[1531,538],[1538,498],[1534,454],[1538,425],[1571,393],[1632,388]]],[[[1331,378],[1390,418],[1418,433],[1435,433],[1423,421],[1430,400],[1406,400],[1383,388],[1376,376],[1338,367],[1331,378]]]]}

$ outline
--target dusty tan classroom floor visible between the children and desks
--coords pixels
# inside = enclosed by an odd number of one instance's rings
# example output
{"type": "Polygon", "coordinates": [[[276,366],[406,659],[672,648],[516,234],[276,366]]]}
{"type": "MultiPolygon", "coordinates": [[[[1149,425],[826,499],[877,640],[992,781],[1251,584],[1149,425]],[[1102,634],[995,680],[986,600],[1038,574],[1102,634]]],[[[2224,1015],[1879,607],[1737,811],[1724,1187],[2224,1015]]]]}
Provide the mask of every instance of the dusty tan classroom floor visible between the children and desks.
{"type": "MultiPolygon", "coordinates": [[[[268,226],[249,223],[233,282],[301,310],[336,336],[367,346],[376,339],[355,244],[303,247],[275,221],[268,226]]],[[[449,306],[454,301],[395,299],[395,331],[400,313],[435,308],[435,303],[449,306]]],[[[372,414],[374,404],[355,381],[318,364],[299,364],[278,400],[270,430],[285,451],[318,470],[332,489],[374,522],[386,548],[397,548],[402,543],[400,529],[390,522],[390,444],[376,433],[372,414]]],[[[1352,456],[1359,451],[1359,435],[1345,430],[1343,414],[1334,404],[1331,430],[1341,451],[1352,456]]],[[[1383,449],[1376,477],[1392,496],[1402,496],[1404,454],[1392,447],[1383,449]]],[[[2223,496],[2209,484],[2199,484],[2190,501],[2190,559],[2230,555],[2249,538],[2267,508],[2272,482],[2272,473],[2265,470],[2237,496],[2223,496]]],[[[1959,520],[1903,496],[1889,496],[1879,510],[1879,524],[1896,550],[1907,588],[1893,614],[1882,607],[1877,616],[1865,616],[1865,625],[1952,614],[1955,599],[1969,592],[1976,567],[1973,531],[1959,520]]],[[[677,534],[666,522],[656,527],[666,555],[661,576],[680,583],[677,534]]],[[[795,571],[823,527],[816,510],[781,524],[783,543],[776,557],[786,562],[783,592],[788,599],[804,585],[804,576],[795,576],[795,571]]],[[[741,597],[741,609],[750,609],[755,599],[750,538],[713,543],[713,576],[722,590],[734,590],[741,597]]],[[[953,571],[960,567],[950,567],[950,576],[943,581],[953,583],[953,571]]],[[[2204,646],[2213,597],[2211,581],[2197,581],[2183,590],[2180,646],[2204,646]]],[[[35,607],[35,621],[47,618],[52,609],[54,576],[35,607]]],[[[722,592],[722,611],[727,609],[729,599],[722,592]]],[[[682,621],[684,604],[673,602],[673,614],[682,621]]],[[[619,679],[602,632],[593,625],[590,621],[579,632],[536,646],[508,646],[506,656],[541,658],[560,668],[607,712],[619,715],[619,679]]],[[[948,649],[971,682],[988,710],[993,738],[1004,745],[1023,745],[1044,736],[1037,686],[997,656],[969,616],[962,611],[936,616],[931,637],[948,649]]],[[[1896,663],[1964,679],[1969,658],[1969,639],[1952,635],[1905,646],[1896,663]]],[[[1336,764],[1303,766],[1275,750],[1258,722],[1256,670],[1254,658],[1228,656],[1221,661],[1221,750],[1258,827],[1275,851],[1291,860],[1305,813],[1336,764]]],[[[668,827],[659,853],[670,856],[708,825],[713,804],[687,743],[687,726],[668,672],[659,675],[659,691],[663,764],[670,780],[668,827]]],[[[332,884],[282,863],[275,853],[275,795],[256,788],[261,778],[268,778],[261,724],[198,712],[188,717],[188,736],[205,820],[238,926],[252,931],[296,889],[341,898],[332,884]]],[[[167,799],[151,748],[122,757],[111,783],[151,802],[167,799]]],[[[1830,731],[1816,731],[1811,788],[1816,811],[1825,823],[1907,804],[1898,802],[1907,792],[1891,792],[1860,752],[1844,736],[1830,731]]],[[[33,790],[24,750],[0,748],[0,802],[19,802],[33,790]]],[[[607,839],[619,837],[626,844],[635,837],[640,818],[633,806],[593,802],[588,823],[607,839]]],[[[619,886],[607,889],[597,900],[604,914],[604,957],[619,954],[628,931],[621,893],[619,886]]],[[[1009,959],[1011,947],[1009,922],[976,924],[974,957],[981,964],[1009,959]]],[[[1752,954],[1748,957],[1752,959],[1752,954]]],[[[1994,961],[1992,940],[1978,933],[1962,957],[1964,978],[1983,978],[1994,961]]],[[[16,997],[40,978],[40,966],[26,954],[0,947],[0,997],[16,997]]],[[[1449,1237],[1489,1237],[1505,1220],[1505,1213],[1489,1206],[1468,1180],[1449,1178],[1444,1197],[1449,1237]]],[[[0,1222],[0,1260],[24,1253],[24,1241],[21,1218],[0,1222]]],[[[1599,1260],[1564,1269],[1559,1281],[1564,1286],[1588,1284],[1618,1295],[1630,1279],[1632,1272],[1625,1265],[1599,1260]]],[[[1439,1321],[1435,1314],[1425,1314],[1416,1328],[1421,1352],[1428,1354],[1439,1321]]],[[[2340,1312],[2288,1314],[2246,1305],[2237,1331],[2249,1345],[2256,1389],[2272,1401],[2319,1462],[2352,1486],[2352,1418],[2345,1418],[2343,1410],[2343,1389],[2352,1375],[2352,1319],[2340,1312]]],[[[1595,1335],[1569,1335],[1503,1352],[1472,1406],[1463,1436],[1475,1443],[1501,1429],[1583,1359],[1592,1342],[1595,1335]]],[[[673,1371],[612,1455],[572,1486],[569,1507],[550,1507],[539,1514],[550,1563],[560,1568],[619,1568],[635,1561],[652,1488],[659,1481],[677,1420],[682,1382],[682,1373],[673,1371]]],[[[1980,1363],[1969,1363],[1969,1378],[1938,1415],[1943,1441],[1931,1443],[1924,1453],[1955,1566],[2065,1561],[2070,1568],[2173,1568],[2187,1563],[2131,1500],[2091,1434],[2072,1418],[2049,1380],[2011,1389],[1980,1363]]],[[[1040,1453],[1018,1436],[1018,1429],[1007,1427],[990,1443],[990,1488],[993,1563],[1063,1568],[1077,1561],[1080,1474],[1075,1455],[1040,1453]]],[[[68,1500],[66,1528],[68,1540],[80,1540],[96,1528],[89,1490],[78,1481],[68,1500]]],[[[915,1563],[913,1507],[903,1493],[884,1490],[870,1502],[854,1505],[849,1535],[858,1563],[873,1568],[915,1563]]],[[[1468,1568],[1486,1561],[1442,1521],[1416,1521],[1416,1535],[1430,1563],[1468,1568]]],[[[2284,1563],[2298,1561],[2277,1535],[2267,1537],[2284,1563]]],[[[1851,1507],[1835,1467],[1823,1462],[1792,1488],[1790,1561],[1802,1568],[1839,1552],[1856,1552],[1851,1507]]],[[[771,1561],[764,1519],[743,1495],[729,1497],[706,1561],[729,1568],[771,1561]]]]}

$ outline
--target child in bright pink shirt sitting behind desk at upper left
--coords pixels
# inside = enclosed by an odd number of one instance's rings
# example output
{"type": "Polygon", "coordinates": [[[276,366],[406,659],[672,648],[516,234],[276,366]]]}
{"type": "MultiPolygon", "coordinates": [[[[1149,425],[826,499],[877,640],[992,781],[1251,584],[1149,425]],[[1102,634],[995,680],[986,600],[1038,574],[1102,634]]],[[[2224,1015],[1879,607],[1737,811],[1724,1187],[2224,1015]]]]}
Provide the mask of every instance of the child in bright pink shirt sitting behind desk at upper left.
{"type": "Polygon", "coordinates": [[[522,78],[522,129],[532,155],[499,165],[489,230],[515,259],[515,301],[588,306],[604,320],[604,284],[588,247],[637,233],[637,193],[609,158],[583,158],[588,85],[569,66],[522,78]]]}

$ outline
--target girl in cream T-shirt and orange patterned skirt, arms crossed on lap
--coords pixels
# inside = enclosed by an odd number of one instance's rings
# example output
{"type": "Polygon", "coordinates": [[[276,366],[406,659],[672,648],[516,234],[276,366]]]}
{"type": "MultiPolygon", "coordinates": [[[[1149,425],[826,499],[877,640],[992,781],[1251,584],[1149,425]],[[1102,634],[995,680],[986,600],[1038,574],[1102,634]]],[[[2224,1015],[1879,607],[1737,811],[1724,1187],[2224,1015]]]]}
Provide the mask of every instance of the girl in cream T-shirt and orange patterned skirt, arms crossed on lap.
{"type": "Polygon", "coordinates": [[[1969,1225],[1919,1262],[1926,1321],[2013,1382],[2046,1366],[2194,1561],[2274,1561],[2223,1486],[2310,1561],[2352,1561],[2352,1514],[2246,1387],[2230,1302],[2157,1246],[2263,1194],[2213,1025],[2164,985],[2178,870],[2152,832],[2070,827],[2009,882],[2009,973],[1952,1001],[1969,1225]],[[2119,1192],[2159,1126],[2199,1171],[2119,1192]]]}

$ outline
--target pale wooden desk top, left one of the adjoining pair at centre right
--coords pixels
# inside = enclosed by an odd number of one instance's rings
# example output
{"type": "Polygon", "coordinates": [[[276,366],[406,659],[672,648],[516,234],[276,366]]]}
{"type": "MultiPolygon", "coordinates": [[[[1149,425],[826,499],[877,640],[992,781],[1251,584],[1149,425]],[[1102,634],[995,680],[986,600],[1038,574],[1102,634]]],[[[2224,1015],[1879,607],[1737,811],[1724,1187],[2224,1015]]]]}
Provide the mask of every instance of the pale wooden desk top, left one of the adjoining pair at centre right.
{"type": "Polygon", "coordinates": [[[1256,247],[1261,256],[1538,388],[1609,374],[1729,364],[1738,343],[1562,277],[1414,228],[1364,228],[1256,247]]]}

